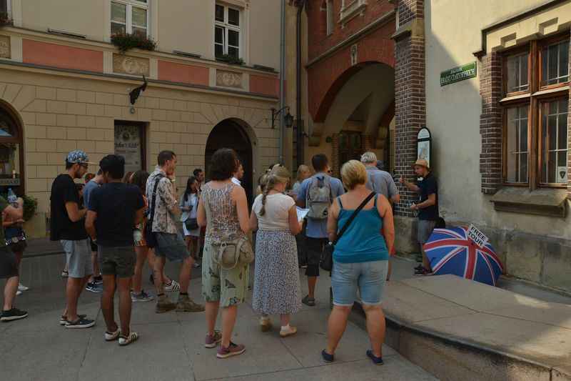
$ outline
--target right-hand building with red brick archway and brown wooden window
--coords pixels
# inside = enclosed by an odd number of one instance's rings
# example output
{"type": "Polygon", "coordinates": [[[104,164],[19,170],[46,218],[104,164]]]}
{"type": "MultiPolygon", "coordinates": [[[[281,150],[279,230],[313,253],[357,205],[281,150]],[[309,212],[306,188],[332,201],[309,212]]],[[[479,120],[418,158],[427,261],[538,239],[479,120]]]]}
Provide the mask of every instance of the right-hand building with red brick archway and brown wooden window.
{"type": "MultiPolygon", "coordinates": [[[[507,274],[571,291],[571,1],[292,5],[304,6],[302,27],[294,7],[287,24],[302,45],[300,91],[288,63],[287,102],[297,91],[305,107],[297,163],[325,152],[338,174],[373,150],[395,177],[413,179],[428,128],[446,221],[482,229],[507,274]]],[[[400,191],[395,244],[418,252],[408,209],[417,196],[400,191]]]]}

